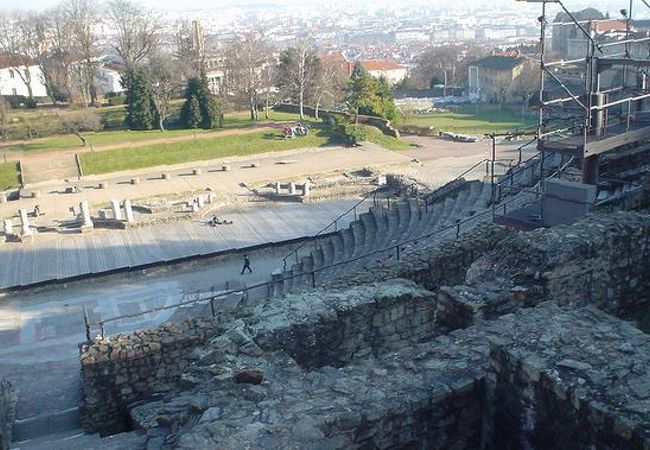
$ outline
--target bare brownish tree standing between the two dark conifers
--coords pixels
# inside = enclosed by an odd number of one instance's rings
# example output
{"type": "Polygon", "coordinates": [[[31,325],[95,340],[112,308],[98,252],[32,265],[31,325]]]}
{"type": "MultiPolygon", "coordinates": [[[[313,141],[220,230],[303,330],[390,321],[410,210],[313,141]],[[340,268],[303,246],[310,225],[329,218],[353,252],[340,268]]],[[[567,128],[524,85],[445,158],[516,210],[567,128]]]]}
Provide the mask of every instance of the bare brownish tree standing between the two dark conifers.
{"type": "Polygon", "coordinates": [[[168,54],[156,53],[148,61],[148,73],[160,131],[165,131],[165,121],[171,116],[170,101],[180,87],[180,73],[177,67],[172,56],[168,54]]]}

